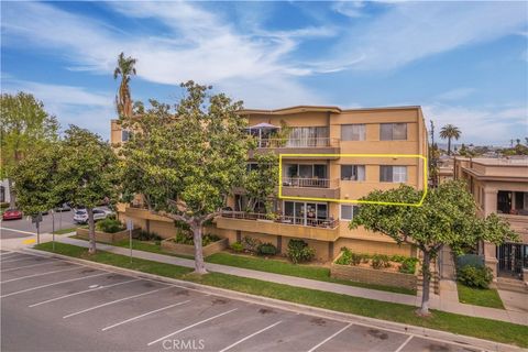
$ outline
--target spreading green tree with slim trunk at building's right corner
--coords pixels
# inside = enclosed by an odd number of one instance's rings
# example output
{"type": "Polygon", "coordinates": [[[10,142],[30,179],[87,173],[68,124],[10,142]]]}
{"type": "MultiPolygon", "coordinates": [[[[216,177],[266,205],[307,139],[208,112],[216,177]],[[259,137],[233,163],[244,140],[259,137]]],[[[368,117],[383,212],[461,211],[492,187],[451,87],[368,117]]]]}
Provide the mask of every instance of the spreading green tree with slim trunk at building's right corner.
{"type": "MultiPolygon", "coordinates": [[[[421,190],[406,185],[386,191],[374,190],[362,200],[418,204],[421,190]]],[[[479,241],[501,244],[517,235],[496,215],[480,219],[476,205],[462,182],[448,182],[430,189],[419,207],[365,204],[351,221],[352,229],[363,226],[399,243],[416,245],[422,252],[424,294],[421,315],[429,314],[430,264],[442,246],[463,253],[479,241]]]]}

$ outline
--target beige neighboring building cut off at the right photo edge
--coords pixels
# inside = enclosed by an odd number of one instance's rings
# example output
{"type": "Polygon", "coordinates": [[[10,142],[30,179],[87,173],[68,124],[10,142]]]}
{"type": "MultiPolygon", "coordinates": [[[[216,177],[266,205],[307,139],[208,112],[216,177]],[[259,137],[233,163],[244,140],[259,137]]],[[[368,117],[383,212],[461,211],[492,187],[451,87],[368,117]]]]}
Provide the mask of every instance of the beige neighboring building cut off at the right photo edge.
{"type": "Polygon", "coordinates": [[[486,265],[495,277],[528,280],[528,158],[457,157],[454,178],[468,183],[481,217],[497,213],[521,239],[498,248],[481,243],[479,252],[486,265]]]}

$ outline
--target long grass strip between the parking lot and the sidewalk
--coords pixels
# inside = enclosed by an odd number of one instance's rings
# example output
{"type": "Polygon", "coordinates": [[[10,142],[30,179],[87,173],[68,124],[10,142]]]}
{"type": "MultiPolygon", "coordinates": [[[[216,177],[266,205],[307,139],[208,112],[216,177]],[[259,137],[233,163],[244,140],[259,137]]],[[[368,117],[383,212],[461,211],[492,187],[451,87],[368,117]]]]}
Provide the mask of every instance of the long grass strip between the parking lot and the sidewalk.
{"type": "MultiPolygon", "coordinates": [[[[37,250],[52,252],[52,243],[35,246],[37,250]]],[[[288,285],[267,283],[258,279],[239,277],[233,275],[210,273],[205,276],[190,274],[191,270],[176,265],[134,258],[132,263],[124,255],[99,251],[90,255],[84,248],[56,243],[56,253],[81,257],[85,260],[106,263],[119,267],[173,277],[204,285],[222,287],[237,292],[282,299],[286,301],[343,311],[365,317],[409,323],[414,326],[444,330],[459,334],[476,337],[504,343],[517,344],[528,348],[528,327],[509,322],[474,318],[450,312],[432,310],[428,318],[418,317],[416,307],[377,301],[366,298],[351,297],[334,293],[293,287],[288,285]]]]}

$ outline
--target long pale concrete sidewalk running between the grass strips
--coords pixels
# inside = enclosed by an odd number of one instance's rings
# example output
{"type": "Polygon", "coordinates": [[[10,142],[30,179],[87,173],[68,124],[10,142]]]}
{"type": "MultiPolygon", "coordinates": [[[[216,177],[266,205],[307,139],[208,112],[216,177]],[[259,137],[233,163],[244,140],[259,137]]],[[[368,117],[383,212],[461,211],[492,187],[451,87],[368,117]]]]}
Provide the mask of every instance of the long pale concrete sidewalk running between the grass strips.
{"type": "MultiPolygon", "coordinates": [[[[56,241],[62,243],[84,246],[84,248],[88,246],[87,241],[70,239],[67,237],[56,237],[56,241]]],[[[98,243],[97,248],[101,251],[107,251],[107,252],[121,254],[121,255],[130,255],[130,250],[124,248],[113,246],[109,244],[101,244],[101,243],[98,243]]],[[[179,265],[185,267],[195,266],[195,263],[193,260],[151,253],[151,252],[134,250],[133,256],[138,258],[179,265]]],[[[420,296],[395,294],[395,293],[388,293],[383,290],[333,284],[333,283],[314,280],[314,279],[295,277],[295,276],[258,272],[258,271],[240,268],[240,267],[221,265],[221,264],[206,263],[206,267],[210,272],[255,278],[260,280],[266,280],[266,282],[296,286],[296,287],[331,292],[336,294],[349,295],[352,297],[363,297],[367,299],[389,301],[389,302],[396,302],[396,304],[403,304],[403,305],[416,306],[416,307],[419,307],[421,302],[420,296]]],[[[455,286],[454,286],[454,289],[455,289],[455,286]]],[[[455,295],[454,293],[452,295],[442,294],[441,296],[437,296],[437,295],[431,295],[431,296],[432,297],[430,299],[430,308],[432,309],[438,309],[442,311],[465,315],[471,317],[487,318],[487,319],[502,320],[502,321],[528,326],[528,315],[526,312],[464,305],[458,301],[458,295],[455,295]]]]}

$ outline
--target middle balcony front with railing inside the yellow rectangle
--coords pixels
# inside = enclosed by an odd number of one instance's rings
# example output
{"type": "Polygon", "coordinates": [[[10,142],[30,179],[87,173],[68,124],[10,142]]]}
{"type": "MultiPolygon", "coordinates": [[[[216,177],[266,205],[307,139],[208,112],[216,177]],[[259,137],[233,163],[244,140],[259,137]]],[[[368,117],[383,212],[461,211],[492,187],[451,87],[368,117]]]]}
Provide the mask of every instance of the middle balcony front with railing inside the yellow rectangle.
{"type": "Polygon", "coordinates": [[[338,199],[339,179],[283,177],[282,196],[338,199]]]}

